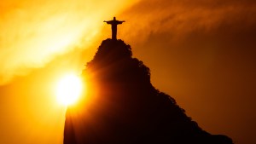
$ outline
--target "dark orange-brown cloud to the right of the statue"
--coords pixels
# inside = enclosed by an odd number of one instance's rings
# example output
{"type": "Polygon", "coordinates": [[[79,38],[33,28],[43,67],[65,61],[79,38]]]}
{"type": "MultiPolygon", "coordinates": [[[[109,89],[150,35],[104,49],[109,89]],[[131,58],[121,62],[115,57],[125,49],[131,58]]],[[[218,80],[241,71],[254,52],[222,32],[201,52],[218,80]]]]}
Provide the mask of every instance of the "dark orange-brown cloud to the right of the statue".
{"type": "Polygon", "coordinates": [[[177,38],[195,31],[212,32],[224,25],[240,31],[255,26],[255,14],[252,0],[143,0],[122,14],[129,21],[122,35],[139,35],[143,41],[156,32],[169,32],[177,38]]]}

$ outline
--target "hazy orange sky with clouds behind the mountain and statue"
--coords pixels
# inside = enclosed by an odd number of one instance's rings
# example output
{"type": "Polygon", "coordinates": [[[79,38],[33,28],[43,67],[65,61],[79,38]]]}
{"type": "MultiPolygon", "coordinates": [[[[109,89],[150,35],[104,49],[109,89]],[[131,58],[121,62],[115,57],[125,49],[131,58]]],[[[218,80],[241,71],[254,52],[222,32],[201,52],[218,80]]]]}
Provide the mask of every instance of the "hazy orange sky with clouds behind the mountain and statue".
{"type": "Polygon", "coordinates": [[[0,143],[61,143],[55,83],[80,72],[117,16],[118,38],[202,129],[253,144],[256,2],[253,0],[3,0],[0,143]]]}

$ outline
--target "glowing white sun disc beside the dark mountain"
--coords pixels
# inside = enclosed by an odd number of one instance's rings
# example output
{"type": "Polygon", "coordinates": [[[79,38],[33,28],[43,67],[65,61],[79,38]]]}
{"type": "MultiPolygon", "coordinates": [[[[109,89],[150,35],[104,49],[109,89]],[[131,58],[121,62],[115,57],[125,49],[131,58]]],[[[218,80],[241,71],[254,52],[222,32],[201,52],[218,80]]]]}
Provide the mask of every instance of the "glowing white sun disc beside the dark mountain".
{"type": "Polygon", "coordinates": [[[66,75],[57,84],[56,96],[61,105],[73,105],[79,100],[82,93],[83,83],[79,76],[74,74],[66,75]]]}

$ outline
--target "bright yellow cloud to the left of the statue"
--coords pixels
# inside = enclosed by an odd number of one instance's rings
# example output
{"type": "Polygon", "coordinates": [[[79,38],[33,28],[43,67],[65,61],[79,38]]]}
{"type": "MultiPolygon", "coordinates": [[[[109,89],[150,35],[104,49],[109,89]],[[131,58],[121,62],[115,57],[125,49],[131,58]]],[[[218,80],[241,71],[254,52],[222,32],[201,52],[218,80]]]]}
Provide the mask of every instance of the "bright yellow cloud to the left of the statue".
{"type": "Polygon", "coordinates": [[[102,20],[132,1],[3,0],[0,3],[0,84],[42,67],[55,55],[93,43],[102,20]]]}

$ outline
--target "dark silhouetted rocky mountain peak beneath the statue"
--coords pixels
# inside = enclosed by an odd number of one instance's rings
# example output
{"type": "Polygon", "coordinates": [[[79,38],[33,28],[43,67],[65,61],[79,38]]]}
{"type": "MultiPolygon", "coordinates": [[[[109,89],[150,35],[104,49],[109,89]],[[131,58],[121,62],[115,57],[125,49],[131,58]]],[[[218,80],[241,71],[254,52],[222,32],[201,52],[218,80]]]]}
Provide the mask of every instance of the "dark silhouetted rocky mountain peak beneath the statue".
{"type": "Polygon", "coordinates": [[[66,113],[64,144],[232,144],[211,135],[155,89],[143,62],[121,40],[102,42],[83,77],[84,102],[66,113]]]}

